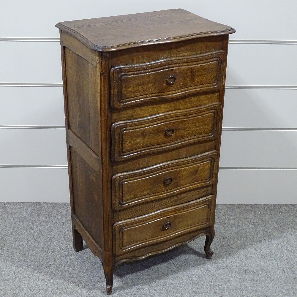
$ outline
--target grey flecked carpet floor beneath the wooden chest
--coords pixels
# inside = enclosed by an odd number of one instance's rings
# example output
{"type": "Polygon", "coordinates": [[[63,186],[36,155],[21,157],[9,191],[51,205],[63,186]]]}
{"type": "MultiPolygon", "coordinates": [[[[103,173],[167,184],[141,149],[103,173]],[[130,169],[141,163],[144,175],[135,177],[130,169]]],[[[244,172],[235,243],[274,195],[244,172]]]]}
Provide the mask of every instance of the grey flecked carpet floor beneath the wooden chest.
{"type": "MultiPolygon", "coordinates": [[[[125,263],[113,296],[297,296],[297,205],[218,205],[204,236],[125,263]]],[[[72,249],[67,203],[0,203],[0,296],[105,296],[100,260],[72,249]]]]}

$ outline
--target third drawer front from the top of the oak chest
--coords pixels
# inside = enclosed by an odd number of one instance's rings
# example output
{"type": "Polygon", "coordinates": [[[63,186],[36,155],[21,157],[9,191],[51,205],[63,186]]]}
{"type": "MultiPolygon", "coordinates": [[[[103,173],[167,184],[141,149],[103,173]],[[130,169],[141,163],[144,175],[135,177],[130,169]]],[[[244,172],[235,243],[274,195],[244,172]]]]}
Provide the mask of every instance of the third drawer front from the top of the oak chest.
{"type": "Polygon", "coordinates": [[[112,177],[112,208],[130,206],[177,195],[213,184],[217,175],[217,151],[164,162],[112,177]]]}

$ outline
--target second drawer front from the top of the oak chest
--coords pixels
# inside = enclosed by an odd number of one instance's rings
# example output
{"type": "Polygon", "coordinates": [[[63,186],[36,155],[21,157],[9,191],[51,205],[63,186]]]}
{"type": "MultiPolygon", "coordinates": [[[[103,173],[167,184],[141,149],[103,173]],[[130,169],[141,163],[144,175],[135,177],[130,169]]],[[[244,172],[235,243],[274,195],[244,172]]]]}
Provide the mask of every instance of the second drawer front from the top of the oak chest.
{"type": "Polygon", "coordinates": [[[112,160],[122,161],[218,137],[220,103],[170,111],[142,119],[116,122],[111,127],[112,160]]]}

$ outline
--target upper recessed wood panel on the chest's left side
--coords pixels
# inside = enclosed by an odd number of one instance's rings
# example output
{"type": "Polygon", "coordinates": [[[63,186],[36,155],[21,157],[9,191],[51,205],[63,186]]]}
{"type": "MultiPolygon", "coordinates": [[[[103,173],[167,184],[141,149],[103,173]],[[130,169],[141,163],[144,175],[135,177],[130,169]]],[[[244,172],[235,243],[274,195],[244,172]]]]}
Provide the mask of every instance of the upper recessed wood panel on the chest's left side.
{"type": "Polygon", "coordinates": [[[100,109],[97,67],[67,47],[65,59],[68,128],[99,155],[101,148],[98,142],[100,109]]]}

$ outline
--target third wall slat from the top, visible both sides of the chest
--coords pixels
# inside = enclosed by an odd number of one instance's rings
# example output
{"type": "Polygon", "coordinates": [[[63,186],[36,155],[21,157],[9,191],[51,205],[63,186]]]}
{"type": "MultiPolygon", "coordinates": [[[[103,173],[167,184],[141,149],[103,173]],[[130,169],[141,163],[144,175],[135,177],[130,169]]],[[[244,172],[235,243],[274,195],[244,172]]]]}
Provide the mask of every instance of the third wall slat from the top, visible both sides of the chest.
{"type": "MultiPolygon", "coordinates": [[[[297,90],[226,89],[223,128],[297,128],[297,90]]],[[[63,89],[0,87],[0,126],[64,126],[63,89]]]]}

